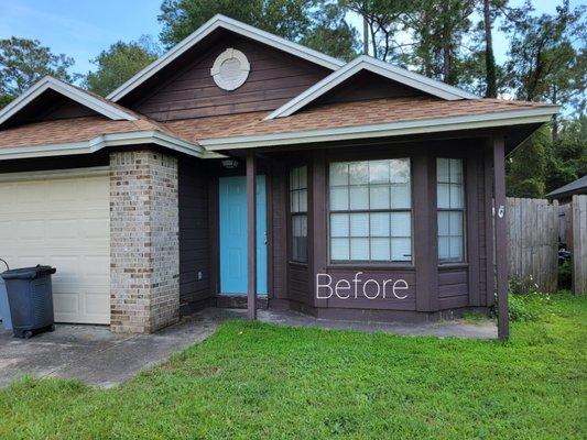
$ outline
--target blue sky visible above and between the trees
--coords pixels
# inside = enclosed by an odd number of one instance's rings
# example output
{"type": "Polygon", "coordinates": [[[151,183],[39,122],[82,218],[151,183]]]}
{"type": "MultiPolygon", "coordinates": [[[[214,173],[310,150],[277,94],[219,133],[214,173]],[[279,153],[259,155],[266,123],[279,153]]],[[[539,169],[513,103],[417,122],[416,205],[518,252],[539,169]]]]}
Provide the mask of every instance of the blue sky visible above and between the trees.
{"type": "MultiPolygon", "coordinates": [[[[573,7],[587,0],[572,0],[573,7]]],[[[157,37],[162,0],[2,0],[0,1],[0,38],[20,36],[39,40],[54,53],[75,59],[72,72],[86,74],[90,59],[117,41],[157,37]]],[[[511,6],[523,0],[511,0],[511,6]]],[[[555,11],[562,0],[533,0],[537,13],[555,11]]],[[[362,29],[358,16],[350,22],[362,29]]],[[[499,61],[506,56],[507,37],[497,32],[494,51],[499,61]]]]}

